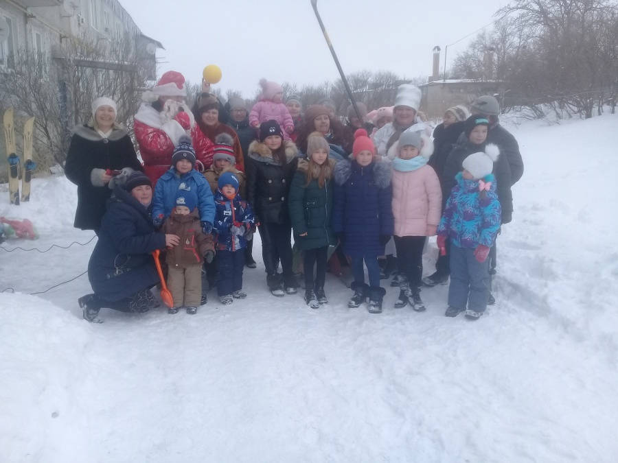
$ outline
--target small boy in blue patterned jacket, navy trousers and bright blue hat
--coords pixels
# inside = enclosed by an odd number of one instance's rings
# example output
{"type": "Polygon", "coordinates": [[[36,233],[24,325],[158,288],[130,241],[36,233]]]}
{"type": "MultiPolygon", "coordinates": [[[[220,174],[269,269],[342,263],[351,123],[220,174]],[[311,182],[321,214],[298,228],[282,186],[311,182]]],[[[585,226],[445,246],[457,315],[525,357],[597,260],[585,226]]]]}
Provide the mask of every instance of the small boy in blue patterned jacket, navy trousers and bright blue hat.
{"type": "Polygon", "coordinates": [[[244,248],[253,239],[251,227],[255,224],[253,211],[238,194],[238,178],[231,172],[219,177],[215,193],[216,217],[214,230],[217,244],[217,294],[222,304],[243,299],[242,269],[244,248]]]}

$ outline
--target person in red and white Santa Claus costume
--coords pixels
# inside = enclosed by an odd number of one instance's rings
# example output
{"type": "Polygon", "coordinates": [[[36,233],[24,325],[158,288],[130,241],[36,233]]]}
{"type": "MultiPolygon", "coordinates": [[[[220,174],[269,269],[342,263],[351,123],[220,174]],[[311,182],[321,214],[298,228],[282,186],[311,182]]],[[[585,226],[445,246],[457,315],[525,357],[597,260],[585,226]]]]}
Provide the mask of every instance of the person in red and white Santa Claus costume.
{"type": "Polygon", "coordinates": [[[141,97],[133,127],[144,172],[152,185],[170,168],[174,146],[183,135],[192,138],[198,171],[204,171],[206,160],[212,158],[214,143],[196,126],[190,106],[184,102],[186,97],[185,78],[176,71],[164,73],[141,97]]]}

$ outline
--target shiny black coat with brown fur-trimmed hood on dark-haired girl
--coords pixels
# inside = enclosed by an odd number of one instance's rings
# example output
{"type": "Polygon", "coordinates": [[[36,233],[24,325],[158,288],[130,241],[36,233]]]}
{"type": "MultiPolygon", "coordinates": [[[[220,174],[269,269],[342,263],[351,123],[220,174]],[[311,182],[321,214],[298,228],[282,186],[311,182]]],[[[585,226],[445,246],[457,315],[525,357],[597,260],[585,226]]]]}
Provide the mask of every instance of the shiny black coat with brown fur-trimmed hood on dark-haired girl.
{"type": "Polygon", "coordinates": [[[298,150],[291,141],[284,141],[286,165],[273,158],[264,143],[255,140],[249,145],[247,165],[247,200],[253,207],[255,222],[290,224],[288,194],[298,164],[298,150]]]}

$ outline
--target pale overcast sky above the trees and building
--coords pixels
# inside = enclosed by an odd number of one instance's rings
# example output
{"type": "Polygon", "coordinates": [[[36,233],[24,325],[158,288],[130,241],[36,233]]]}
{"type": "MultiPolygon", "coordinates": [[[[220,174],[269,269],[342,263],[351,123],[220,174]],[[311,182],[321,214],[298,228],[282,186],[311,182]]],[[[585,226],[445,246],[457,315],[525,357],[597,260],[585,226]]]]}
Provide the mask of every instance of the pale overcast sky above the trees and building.
{"type": "MultiPolygon", "coordinates": [[[[218,87],[253,97],[258,80],[318,84],[339,78],[310,0],[120,0],[141,31],[159,40],[159,75],[179,71],[200,82],[217,64],[218,87]]],[[[505,0],[318,0],[346,74],[388,70],[428,76],[433,47],[444,49],[494,21],[505,0]]],[[[448,47],[447,69],[472,37],[448,47]]]]}

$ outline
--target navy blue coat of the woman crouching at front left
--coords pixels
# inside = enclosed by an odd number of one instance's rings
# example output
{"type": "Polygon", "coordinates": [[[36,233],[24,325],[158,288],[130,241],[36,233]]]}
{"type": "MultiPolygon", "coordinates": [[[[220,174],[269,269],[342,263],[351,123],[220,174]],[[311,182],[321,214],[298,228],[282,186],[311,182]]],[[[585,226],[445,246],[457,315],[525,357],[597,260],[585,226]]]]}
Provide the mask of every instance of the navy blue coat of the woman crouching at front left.
{"type": "Polygon", "coordinates": [[[103,216],[99,241],[88,263],[93,292],[115,302],[159,282],[150,254],[165,248],[165,233],[155,233],[146,209],[121,187],[116,187],[103,216]]]}

